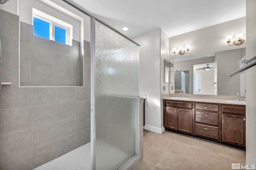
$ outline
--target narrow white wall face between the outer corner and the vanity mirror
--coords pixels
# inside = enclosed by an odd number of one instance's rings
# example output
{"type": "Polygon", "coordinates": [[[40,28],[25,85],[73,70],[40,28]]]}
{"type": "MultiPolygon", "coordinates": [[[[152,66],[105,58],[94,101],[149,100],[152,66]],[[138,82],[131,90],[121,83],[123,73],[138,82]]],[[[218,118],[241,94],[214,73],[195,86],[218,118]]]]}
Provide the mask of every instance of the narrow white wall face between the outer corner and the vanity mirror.
{"type": "MultiPolygon", "coordinates": [[[[161,127],[164,126],[164,104],[163,104],[163,95],[164,94],[169,94],[170,93],[170,86],[169,83],[165,83],[164,82],[164,59],[169,61],[169,37],[166,35],[166,33],[164,33],[164,31],[161,29],[160,31],[160,73],[161,73],[161,78],[160,78],[160,82],[161,82],[161,127]],[[165,86],[165,90],[164,90],[164,86],[165,86]]],[[[169,72],[170,73],[170,72],[169,72]]]]}

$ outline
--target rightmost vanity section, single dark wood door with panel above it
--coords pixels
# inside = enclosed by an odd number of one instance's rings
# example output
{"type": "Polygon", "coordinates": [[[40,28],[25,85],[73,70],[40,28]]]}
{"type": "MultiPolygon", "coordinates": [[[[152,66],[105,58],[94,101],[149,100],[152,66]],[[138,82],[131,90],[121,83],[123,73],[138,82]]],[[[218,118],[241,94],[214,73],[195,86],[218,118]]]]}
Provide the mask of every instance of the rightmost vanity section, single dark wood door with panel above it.
{"type": "Polygon", "coordinates": [[[245,147],[245,107],[226,107],[222,107],[222,141],[225,143],[231,143],[233,145],[245,147]],[[226,111],[227,113],[223,113],[223,111],[226,111]]]}

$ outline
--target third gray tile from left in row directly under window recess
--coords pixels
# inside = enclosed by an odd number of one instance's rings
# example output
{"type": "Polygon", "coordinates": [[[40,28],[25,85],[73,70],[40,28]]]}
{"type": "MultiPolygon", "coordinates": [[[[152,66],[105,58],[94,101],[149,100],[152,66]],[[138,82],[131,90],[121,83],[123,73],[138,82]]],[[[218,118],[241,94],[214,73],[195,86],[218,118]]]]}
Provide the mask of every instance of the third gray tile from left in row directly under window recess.
{"type": "Polygon", "coordinates": [[[58,87],[58,103],[76,101],[76,88],[58,87]]]}

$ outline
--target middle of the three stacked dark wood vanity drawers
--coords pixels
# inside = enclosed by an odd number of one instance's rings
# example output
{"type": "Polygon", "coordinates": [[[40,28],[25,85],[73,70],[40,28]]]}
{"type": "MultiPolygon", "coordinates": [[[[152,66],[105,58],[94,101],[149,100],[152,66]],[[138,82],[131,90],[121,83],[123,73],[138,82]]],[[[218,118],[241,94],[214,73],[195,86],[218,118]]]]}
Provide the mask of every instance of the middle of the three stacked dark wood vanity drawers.
{"type": "Polygon", "coordinates": [[[195,121],[210,125],[219,125],[219,113],[210,113],[205,111],[195,111],[195,121]]]}

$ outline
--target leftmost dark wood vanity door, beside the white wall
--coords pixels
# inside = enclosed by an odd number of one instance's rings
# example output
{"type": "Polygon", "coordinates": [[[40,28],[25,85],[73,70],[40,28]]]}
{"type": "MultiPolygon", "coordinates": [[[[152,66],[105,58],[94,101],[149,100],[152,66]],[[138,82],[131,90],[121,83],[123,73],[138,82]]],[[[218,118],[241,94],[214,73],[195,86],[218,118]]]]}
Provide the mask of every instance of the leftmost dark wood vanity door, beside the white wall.
{"type": "Polygon", "coordinates": [[[172,107],[165,108],[165,127],[177,130],[177,109],[172,107]]]}

